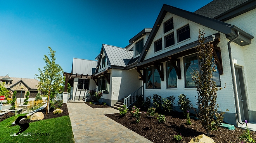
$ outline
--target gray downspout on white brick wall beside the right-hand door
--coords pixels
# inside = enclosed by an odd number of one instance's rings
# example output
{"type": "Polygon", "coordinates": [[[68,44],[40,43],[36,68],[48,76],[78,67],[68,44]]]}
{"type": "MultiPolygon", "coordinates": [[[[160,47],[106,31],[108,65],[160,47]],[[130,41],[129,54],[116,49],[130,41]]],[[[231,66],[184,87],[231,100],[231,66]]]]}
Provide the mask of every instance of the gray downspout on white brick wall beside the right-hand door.
{"type": "Polygon", "coordinates": [[[238,31],[235,31],[237,36],[230,40],[228,42],[228,54],[229,54],[229,61],[230,61],[230,67],[231,67],[231,76],[232,76],[232,82],[233,82],[233,89],[234,89],[234,96],[235,96],[235,107],[236,107],[236,113],[237,113],[237,121],[238,123],[240,124],[244,124],[242,123],[242,120],[241,120],[241,114],[240,114],[240,108],[239,108],[239,97],[238,97],[238,94],[237,94],[237,85],[235,83],[235,71],[234,71],[234,68],[233,68],[233,65],[234,65],[234,62],[233,62],[233,57],[232,57],[232,54],[231,54],[231,46],[230,46],[230,43],[233,42],[235,39],[239,38],[240,37],[240,34],[238,31]]]}

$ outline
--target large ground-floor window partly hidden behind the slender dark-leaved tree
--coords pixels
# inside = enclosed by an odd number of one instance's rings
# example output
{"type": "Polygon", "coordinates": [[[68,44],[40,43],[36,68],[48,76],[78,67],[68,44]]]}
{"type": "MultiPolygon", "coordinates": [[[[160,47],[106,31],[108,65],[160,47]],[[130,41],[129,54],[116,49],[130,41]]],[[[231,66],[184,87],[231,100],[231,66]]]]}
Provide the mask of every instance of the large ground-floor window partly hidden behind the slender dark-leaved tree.
{"type": "MultiPolygon", "coordinates": [[[[185,67],[185,87],[195,87],[195,83],[192,81],[191,73],[193,73],[193,69],[195,71],[199,70],[199,60],[196,55],[184,57],[184,67],[185,67]]],[[[215,70],[213,72],[213,80],[215,81],[217,86],[220,85],[220,74],[215,66],[215,70]]]]}

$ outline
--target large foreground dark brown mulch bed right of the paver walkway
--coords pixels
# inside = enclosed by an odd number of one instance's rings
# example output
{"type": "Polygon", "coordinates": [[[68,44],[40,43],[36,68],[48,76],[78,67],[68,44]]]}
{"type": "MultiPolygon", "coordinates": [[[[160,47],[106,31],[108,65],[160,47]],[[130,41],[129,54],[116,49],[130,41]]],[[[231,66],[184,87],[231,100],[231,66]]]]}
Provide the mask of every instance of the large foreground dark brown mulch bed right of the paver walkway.
{"type": "MultiPolygon", "coordinates": [[[[200,121],[190,119],[192,125],[187,125],[187,119],[183,113],[175,112],[172,116],[166,116],[165,123],[158,123],[156,118],[152,119],[152,130],[150,130],[150,119],[142,113],[140,123],[135,123],[135,118],[130,114],[130,111],[121,117],[119,114],[106,114],[105,116],[122,124],[126,128],[135,131],[141,136],[149,139],[154,143],[176,143],[173,140],[173,135],[181,135],[182,141],[178,143],[188,143],[192,138],[205,134],[206,131],[201,127],[200,121]]],[[[236,128],[235,130],[228,130],[225,128],[218,128],[218,131],[211,131],[211,138],[216,143],[241,143],[239,136],[242,135],[243,129],[236,128]]],[[[256,139],[256,132],[251,131],[251,137],[256,139]]],[[[245,141],[244,141],[245,143],[245,141]]]]}

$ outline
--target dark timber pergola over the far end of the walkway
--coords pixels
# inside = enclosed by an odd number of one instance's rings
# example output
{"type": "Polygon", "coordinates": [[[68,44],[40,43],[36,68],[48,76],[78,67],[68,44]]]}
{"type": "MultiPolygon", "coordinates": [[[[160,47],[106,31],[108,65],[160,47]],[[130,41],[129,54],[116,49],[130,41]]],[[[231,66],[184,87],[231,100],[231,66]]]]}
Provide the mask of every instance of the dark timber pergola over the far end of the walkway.
{"type": "MultiPolygon", "coordinates": [[[[73,73],[67,73],[64,72],[63,76],[65,76],[65,89],[64,92],[67,92],[67,83],[70,84],[71,87],[73,87],[73,83],[74,83],[74,78],[80,78],[80,79],[92,79],[92,75],[83,75],[83,74],[73,74],[73,73]]],[[[96,82],[96,81],[95,81],[96,82]]]]}

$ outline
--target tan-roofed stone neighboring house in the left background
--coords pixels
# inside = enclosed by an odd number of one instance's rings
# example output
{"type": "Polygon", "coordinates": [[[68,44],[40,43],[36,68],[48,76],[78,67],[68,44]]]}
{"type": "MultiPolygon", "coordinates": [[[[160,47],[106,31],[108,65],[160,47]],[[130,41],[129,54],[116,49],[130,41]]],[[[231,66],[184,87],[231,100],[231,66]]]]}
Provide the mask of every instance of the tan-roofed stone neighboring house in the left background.
{"type": "Polygon", "coordinates": [[[29,98],[35,98],[37,91],[38,80],[36,79],[28,79],[28,78],[20,78],[20,77],[9,77],[0,76],[0,81],[5,82],[5,88],[10,91],[12,95],[14,91],[17,92],[16,98],[25,98],[25,94],[29,91],[29,98]],[[22,94],[21,94],[22,88],[22,94]]]}

